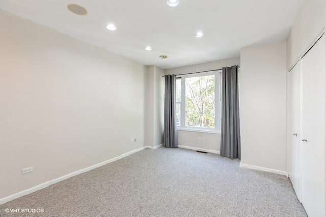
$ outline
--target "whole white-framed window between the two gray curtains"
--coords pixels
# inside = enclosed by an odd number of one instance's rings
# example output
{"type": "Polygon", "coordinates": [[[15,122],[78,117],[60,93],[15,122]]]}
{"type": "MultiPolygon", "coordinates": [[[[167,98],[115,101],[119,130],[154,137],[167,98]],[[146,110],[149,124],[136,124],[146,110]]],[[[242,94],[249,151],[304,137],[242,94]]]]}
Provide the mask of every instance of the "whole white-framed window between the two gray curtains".
{"type": "Polygon", "coordinates": [[[220,73],[182,75],[176,79],[177,128],[220,131],[220,73]]]}

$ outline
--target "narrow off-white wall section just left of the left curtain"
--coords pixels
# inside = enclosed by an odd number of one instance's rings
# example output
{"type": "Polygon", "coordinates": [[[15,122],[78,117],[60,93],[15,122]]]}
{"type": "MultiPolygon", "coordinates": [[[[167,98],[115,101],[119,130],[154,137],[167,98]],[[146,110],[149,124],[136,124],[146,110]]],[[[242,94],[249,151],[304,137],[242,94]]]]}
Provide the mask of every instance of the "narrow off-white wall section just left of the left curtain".
{"type": "Polygon", "coordinates": [[[145,145],[163,143],[164,69],[148,66],[146,74],[145,145]]]}

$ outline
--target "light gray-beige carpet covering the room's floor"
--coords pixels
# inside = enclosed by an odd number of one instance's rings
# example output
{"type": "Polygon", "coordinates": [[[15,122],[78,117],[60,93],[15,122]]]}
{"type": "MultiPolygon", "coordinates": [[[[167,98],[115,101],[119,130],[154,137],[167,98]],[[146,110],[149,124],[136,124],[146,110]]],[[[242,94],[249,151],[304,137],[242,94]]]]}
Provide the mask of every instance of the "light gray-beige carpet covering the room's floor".
{"type": "Polygon", "coordinates": [[[145,149],[2,204],[0,216],[307,216],[286,176],[239,164],[181,148],[145,149]],[[35,210],[43,212],[28,212],[35,210]]]}

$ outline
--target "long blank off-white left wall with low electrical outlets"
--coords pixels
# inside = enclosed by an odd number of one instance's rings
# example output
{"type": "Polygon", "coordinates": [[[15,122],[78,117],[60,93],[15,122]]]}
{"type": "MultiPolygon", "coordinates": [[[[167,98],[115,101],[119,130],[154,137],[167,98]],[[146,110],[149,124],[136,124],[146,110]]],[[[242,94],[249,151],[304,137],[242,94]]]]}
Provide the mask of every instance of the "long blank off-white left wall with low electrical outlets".
{"type": "Polygon", "coordinates": [[[145,66],[0,20],[0,198],[144,147],[145,66]]]}

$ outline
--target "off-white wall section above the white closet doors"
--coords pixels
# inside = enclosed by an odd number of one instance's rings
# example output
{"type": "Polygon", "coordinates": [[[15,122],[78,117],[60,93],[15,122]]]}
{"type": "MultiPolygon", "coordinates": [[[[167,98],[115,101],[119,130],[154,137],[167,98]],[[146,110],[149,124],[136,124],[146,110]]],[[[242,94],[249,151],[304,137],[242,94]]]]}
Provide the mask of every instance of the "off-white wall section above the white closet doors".
{"type": "Polygon", "coordinates": [[[287,70],[316,42],[323,32],[325,0],[304,0],[287,37],[287,70]]]}

